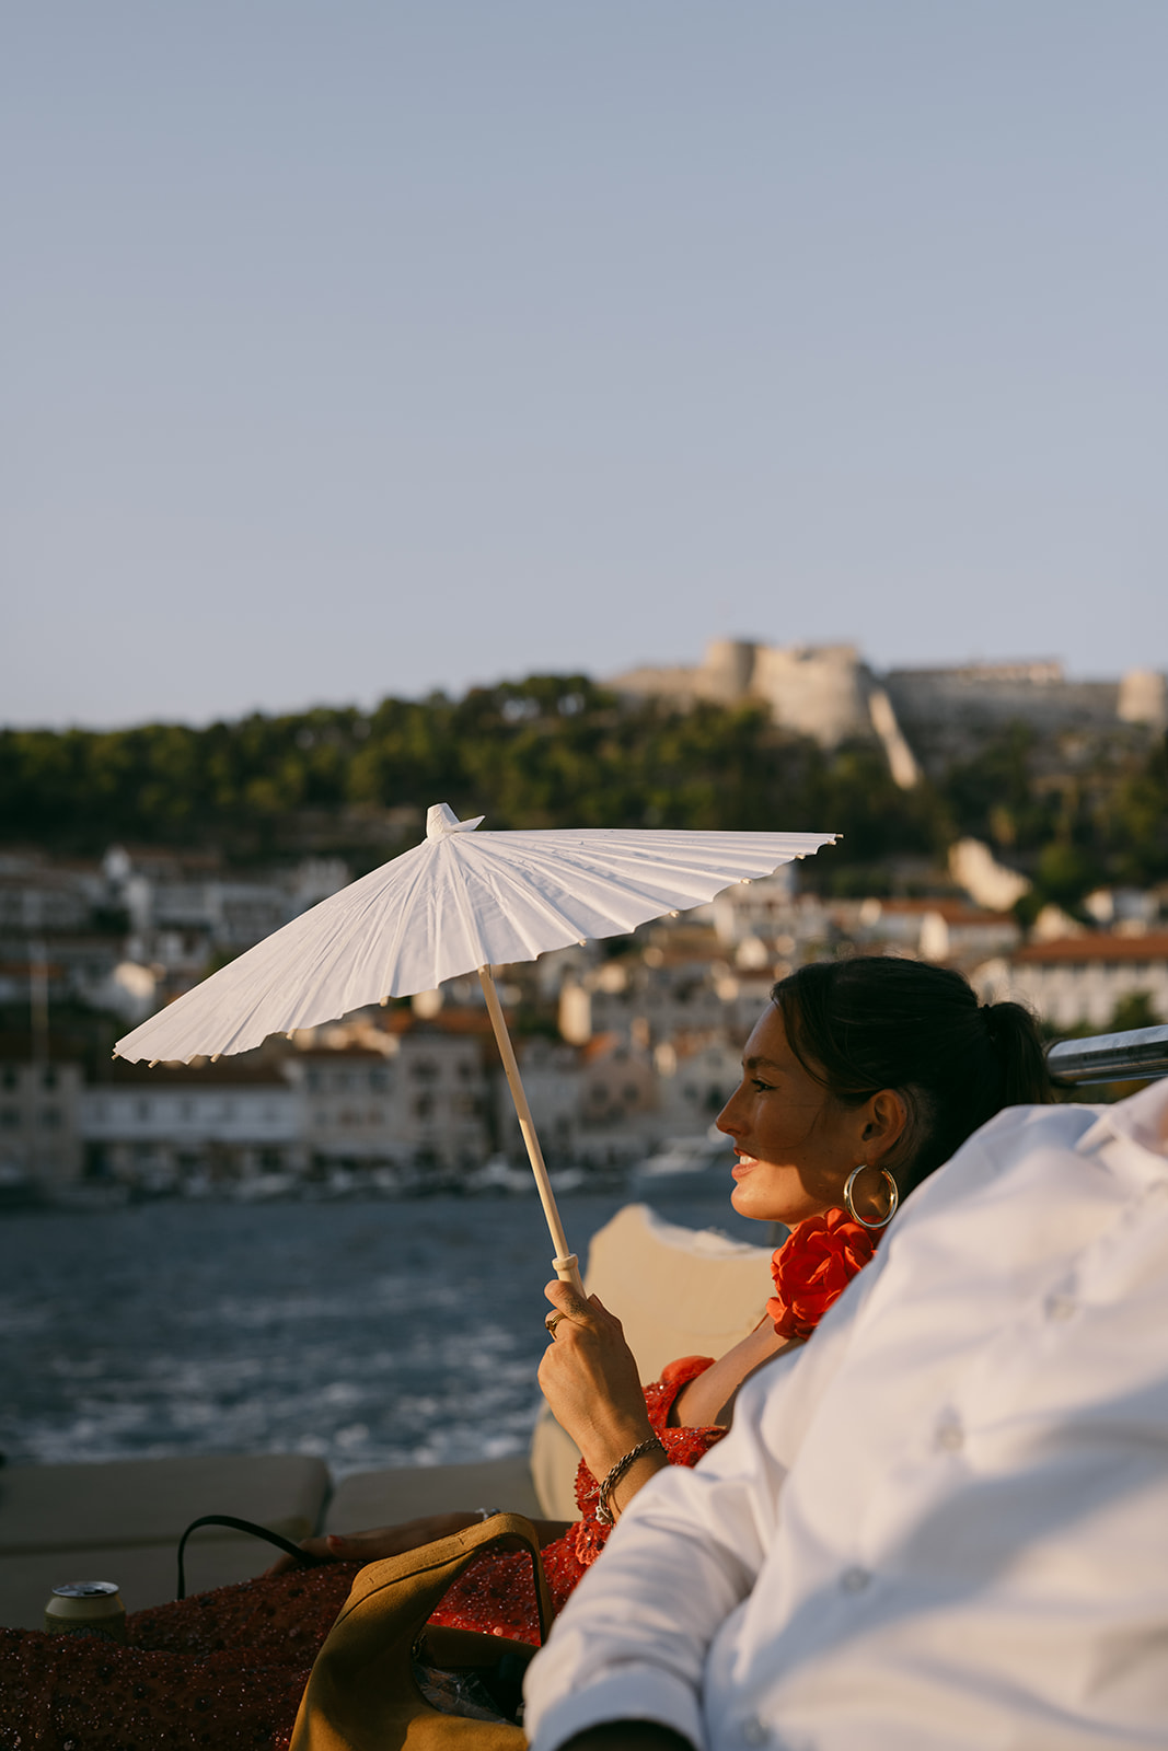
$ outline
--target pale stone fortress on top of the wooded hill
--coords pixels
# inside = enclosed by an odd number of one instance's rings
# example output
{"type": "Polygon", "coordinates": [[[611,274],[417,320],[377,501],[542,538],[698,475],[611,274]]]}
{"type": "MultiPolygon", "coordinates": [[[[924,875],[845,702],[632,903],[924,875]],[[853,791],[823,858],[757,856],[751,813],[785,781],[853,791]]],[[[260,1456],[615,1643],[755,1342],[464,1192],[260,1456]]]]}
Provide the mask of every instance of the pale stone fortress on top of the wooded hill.
{"type": "Polygon", "coordinates": [[[853,644],[758,644],[714,639],[697,667],[641,667],[609,683],[630,697],[765,704],[772,720],[821,748],[876,735],[895,781],[963,758],[988,734],[1026,723],[1038,735],[1168,728],[1168,679],[1131,669],[1117,681],[1072,681],[1054,660],[890,669],[877,674],[853,644]]]}

